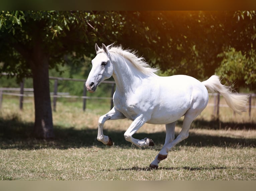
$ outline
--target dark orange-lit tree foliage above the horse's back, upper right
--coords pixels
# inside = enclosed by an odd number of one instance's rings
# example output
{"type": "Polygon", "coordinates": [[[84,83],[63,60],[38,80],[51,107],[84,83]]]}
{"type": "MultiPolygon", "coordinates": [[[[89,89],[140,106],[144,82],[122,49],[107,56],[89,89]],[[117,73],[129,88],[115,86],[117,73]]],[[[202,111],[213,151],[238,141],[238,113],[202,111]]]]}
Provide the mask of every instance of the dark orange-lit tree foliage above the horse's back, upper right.
{"type": "MultiPolygon", "coordinates": [[[[139,50],[151,65],[158,66],[166,75],[186,74],[204,80],[218,73],[224,59],[220,54],[230,47],[243,55],[251,55],[251,61],[256,59],[255,54],[251,54],[256,44],[254,11],[128,11],[121,14],[125,17],[125,27],[130,26],[130,30],[126,30],[119,41],[139,50]]],[[[244,86],[239,75],[234,76],[232,80],[244,86]]]]}

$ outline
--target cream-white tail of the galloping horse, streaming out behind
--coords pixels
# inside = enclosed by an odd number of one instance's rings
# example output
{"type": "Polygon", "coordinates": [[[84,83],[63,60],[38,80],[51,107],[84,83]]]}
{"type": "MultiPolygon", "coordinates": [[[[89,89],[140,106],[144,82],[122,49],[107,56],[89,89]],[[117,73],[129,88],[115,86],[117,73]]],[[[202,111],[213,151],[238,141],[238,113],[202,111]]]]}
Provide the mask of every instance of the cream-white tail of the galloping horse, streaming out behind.
{"type": "Polygon", "coordinates": [[[228,106],[232,108],[235,112],[240,114],[242,111],[246,111],[248,96],[232,93],[230,91],[231,87],[222,85],[218,76],[213,75],[208,80],[203,81],[202,83],[212,92],[219,92],[226,100],[228,106]]]}

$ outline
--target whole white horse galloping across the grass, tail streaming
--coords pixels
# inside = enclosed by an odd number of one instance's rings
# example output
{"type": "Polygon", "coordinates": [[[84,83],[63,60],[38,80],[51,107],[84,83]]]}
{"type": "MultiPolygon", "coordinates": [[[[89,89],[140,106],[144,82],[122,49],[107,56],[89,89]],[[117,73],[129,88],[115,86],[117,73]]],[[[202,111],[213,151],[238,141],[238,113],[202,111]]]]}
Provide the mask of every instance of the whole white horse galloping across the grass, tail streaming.
{"type": "Polygon", "coordinates": [[[113,96],[114,107],[99,118],[97,139],[106,145],[113,145],[109,136],[103,134],[103,125],[107,120],[128,118],[133,122],[124,133],[125,140],[138,147],[153,146],[149,138],[135,139],[134,133],[144,124],[165,124],[165,142],[151,162],[150,168],[158,168],[158,163],[167,157],[168,151],[188,137],[192,121],[204,110],[208,103],[208,91],[220,92],[227,104],[237,113],[246,108],[247,96],[233,94],[220,83],[218,76],[212,76],[204,82],[185,75],[160,77],[157,69],[150,68],[142,57],[121,47],[105,46],[102,49],[95,44],[96,57],[92,60],[92,69],[86,81],[89,92],[95,92],[97,86],[113,76],[116,91],[113,96]],[[174,139],[176,121],[184,116],[182,129],[174,139]]]}

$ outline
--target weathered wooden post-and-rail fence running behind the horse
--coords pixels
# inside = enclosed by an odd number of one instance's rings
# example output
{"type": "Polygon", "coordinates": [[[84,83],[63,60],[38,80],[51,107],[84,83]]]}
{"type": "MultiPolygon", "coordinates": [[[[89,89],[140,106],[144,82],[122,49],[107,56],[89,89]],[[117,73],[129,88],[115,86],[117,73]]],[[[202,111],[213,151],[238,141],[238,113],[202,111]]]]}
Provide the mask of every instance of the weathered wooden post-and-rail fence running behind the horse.
{"type": "MultiPolygon", "coordinates": [[[[87,99],[109,99],[110,100],[110,109],[113,108],[113,95],[115,91],[115,82],[114,81],[103,81],[102,83],[111,84],[112,90],[110,97],[92,97],[87,96],[87,90],[84,86],[83,96],[78,95],[69,95],[69,93],[58,93],[58,81],[74,81],[74,82],[86,82],[86,80],[82,79],[71,79],[71,78],[60,78],[60,77],[49,77],[50,80],[54,80],[54,90],[51,93],[51,97],[53,97],[53,111],[56,111],[56,103],[58,97],[66,97],[66,98],[82,98],[83,100],[83,110],[86,109],[86,100],[87,99]]],[[[3,95],[13,95],[19,96],[19,108],[23,108],[23,97],[33,97],[33,88],[24,88],[24,80],[20,83],[20,88],[0,88],[0,108],[2,105],[3,95]],[[13,93],[19,92],[19,93],[13,93]]],[[[208,103],[209,106],[214,106],[214,116],[219,116],[220,107],[228,107],[226,104],[220,104],[220,94],[219,93],[209,93],[209,95],[214,96],[214,103],[208,103]]],[[[256,97],[256,94],[246,94],[249,96],[248,110],[249,116],[251,116],[251,109],[256,108],[255,105],[252,105],[252,97],[256,97]]]]}

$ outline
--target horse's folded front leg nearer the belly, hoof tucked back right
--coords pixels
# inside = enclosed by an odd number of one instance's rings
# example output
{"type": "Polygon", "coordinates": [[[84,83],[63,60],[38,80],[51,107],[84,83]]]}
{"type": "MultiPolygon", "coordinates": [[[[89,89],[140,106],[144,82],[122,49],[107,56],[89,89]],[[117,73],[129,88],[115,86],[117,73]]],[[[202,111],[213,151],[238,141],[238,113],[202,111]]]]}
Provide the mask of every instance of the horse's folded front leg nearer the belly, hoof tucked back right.
{"type": "Polygon", "coordinates": [[[132,137],[132,135],[134,133],[137,132],[137,130],[139,130],[139,128],[145,124],[146,122],[146,118],[141,114],[138,117],[136,117],[134,119],[134,121],[132,122],[132,124],[129,126],[129,128],[125,131],[124,133],[124,138],[125,140],[135,144],[138,147],[142,147],[142,146],[154,146],[154,142],[152,141],[152,139],[149,138],[144,138],[144,139],[135,139],[132,137]]]}

